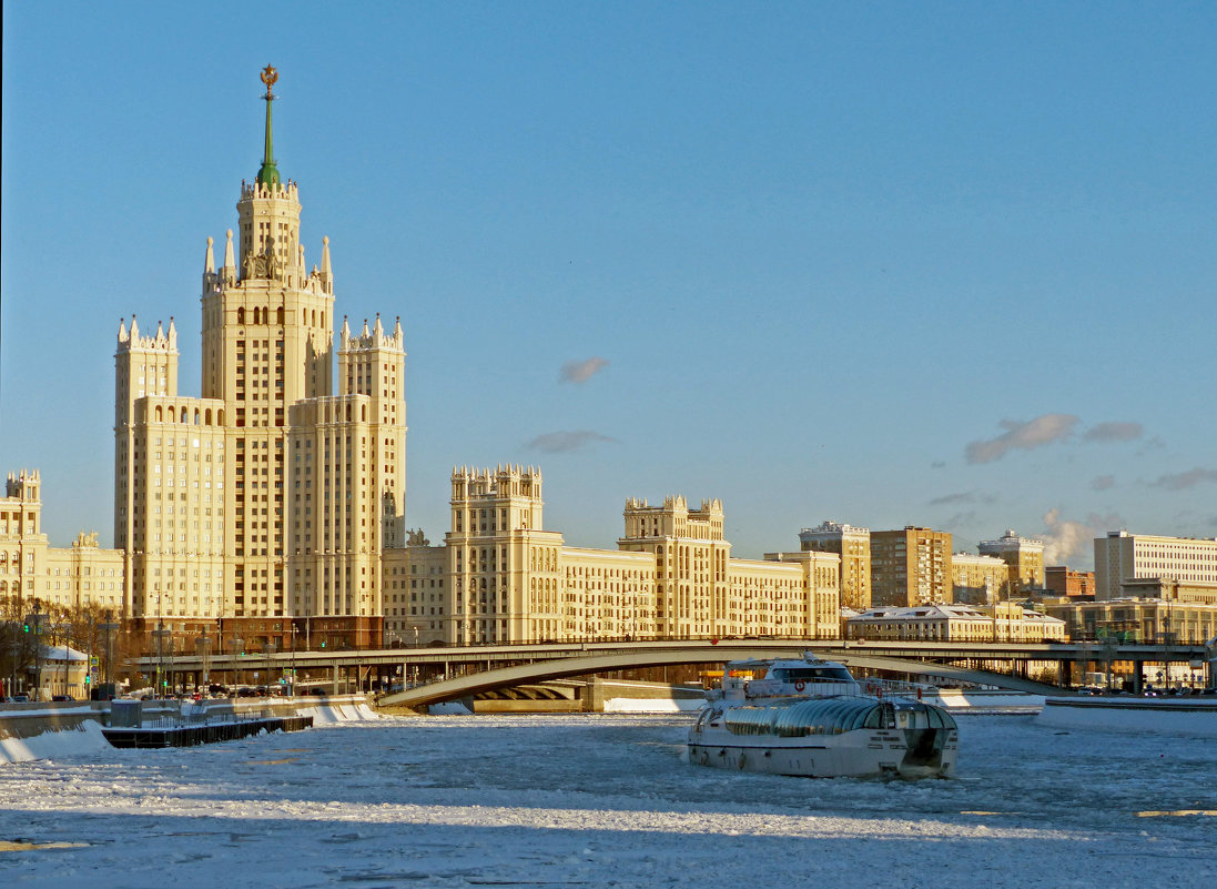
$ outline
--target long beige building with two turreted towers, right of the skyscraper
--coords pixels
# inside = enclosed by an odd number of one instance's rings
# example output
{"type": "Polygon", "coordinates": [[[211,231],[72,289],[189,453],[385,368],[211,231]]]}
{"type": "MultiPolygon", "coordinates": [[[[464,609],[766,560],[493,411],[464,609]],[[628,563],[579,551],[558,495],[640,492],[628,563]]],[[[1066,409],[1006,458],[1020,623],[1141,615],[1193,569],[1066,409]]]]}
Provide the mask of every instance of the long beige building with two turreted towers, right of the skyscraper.
{"type": "Polygon", "coordinates": [[[385,632],[403,644],[840,636],[831,553],[730,558],[723,505],[626,504],[618,548],[544,529],[535,468],[458,468],[442,546],[386,550],[385,632]]]}

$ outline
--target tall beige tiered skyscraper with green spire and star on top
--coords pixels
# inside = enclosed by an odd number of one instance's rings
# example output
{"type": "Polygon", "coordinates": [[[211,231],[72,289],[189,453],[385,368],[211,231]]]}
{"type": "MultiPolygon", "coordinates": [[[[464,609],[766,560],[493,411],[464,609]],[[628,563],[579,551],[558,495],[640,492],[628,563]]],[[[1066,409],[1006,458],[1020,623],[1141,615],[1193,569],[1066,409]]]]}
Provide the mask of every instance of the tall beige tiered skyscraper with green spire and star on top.
{"type": "Polygon", "coordinates": [[[405,350],[380,318],[333,329],[329,239],[309,268],[296,183],[267,129],[241,184],[237,231],[202,281],[202,397],[178,395],[173,319],[119,324],[114,541],[127,613],[178,632],[208,626],[286,648],[296,628],[378,644],[381,555],[404,539],[405,350]],[[335,393],[337,358],[337,393],[335,393]]]}

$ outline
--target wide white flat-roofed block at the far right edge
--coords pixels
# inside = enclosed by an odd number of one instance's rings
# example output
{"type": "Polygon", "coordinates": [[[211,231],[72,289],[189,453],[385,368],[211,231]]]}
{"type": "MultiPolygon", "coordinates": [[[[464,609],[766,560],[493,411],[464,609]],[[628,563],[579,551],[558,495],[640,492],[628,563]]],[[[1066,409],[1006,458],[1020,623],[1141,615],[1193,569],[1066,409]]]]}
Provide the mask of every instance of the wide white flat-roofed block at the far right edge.
{"type": "MultiPolygon", "coordinates": [[[[1217,585],[1217,538],[1161,537],[1109,531],[1094,539],[1095,599],[1120,599],[1135,594],[1126,583],[1146,580],[1179,581],[1187,591],[1217,585]]],[[[1178,592],[1177,588],[1171,588],[1178,592]]],[[[1184,593],[1187,594],[1187,593],[1184,593]]]]}

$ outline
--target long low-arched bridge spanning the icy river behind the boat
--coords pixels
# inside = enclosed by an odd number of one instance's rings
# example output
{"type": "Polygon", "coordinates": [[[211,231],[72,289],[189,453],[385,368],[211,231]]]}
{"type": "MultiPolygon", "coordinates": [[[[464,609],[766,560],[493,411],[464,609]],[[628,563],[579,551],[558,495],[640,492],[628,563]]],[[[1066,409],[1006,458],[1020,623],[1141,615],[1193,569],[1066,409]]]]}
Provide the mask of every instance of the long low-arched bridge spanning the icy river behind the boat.
{"type": "MultiPolygon", "coordinates": [[[[419,677],[421,684],[382,698],[385,705],[425,704],[570,676],[587,676],[644,667],[724,664],[746,658],[798,656],[803,652],[840,660],[852,667],[893,671],[920,677],[991,684],[998,688],[1059,693],[1059,686],[1032,681],[1031,662],[1055,662],[1061,686],[1070,684],[1070,665],[1131,661],[1204,661],[1211,658],[1200,644],[1097,643],[969,643],[969,642],[875,642],[845,639],[672,639],[645,642],[577,642],[515,645],[467,645],[442,648],[365,649],[347,652],[281,652],[208,658],[207,669],[231,673],[236,681],[273,681],[276,672],[327,672],[330,681],[346,688],[360,687],[366,677],[419,677]],[[985,669],[1010,665],[1010,672],[985,669]]],[[[204,670],[198,655],[142,658],[139,665],[197,678],[204,670]]],[[[1140,670],[1134,671],[1140,676],[1140,670]]]]}

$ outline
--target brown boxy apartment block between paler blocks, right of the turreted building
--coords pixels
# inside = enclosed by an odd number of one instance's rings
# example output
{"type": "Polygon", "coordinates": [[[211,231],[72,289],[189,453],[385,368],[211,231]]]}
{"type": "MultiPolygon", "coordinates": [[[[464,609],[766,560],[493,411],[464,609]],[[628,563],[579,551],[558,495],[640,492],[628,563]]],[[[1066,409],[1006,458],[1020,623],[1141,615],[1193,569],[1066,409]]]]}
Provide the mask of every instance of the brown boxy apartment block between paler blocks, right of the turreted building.
{"type": "Polygon", "coordinates": [[[905,525],[870,535],[871,599],[876,605],[932,605],[953,596],[950,532],[905,525]]]}

